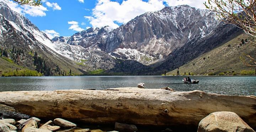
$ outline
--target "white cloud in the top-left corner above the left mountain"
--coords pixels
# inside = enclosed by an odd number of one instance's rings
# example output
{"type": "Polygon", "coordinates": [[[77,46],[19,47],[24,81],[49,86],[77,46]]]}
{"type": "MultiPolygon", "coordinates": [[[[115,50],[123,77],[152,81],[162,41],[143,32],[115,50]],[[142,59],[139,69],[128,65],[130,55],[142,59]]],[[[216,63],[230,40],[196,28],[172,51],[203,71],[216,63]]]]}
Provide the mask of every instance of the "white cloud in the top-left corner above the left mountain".
{"type": "Polygon", "coordinates": [[[22,15],[30,15],[33,17],[37,16],[46,16],[45,11],[48,11],[44,6],[29,6],[29,5],[18,5],[14,3],[12,0],[0,0],[5,2],[12,10],[21,13],[22,15]]]}

